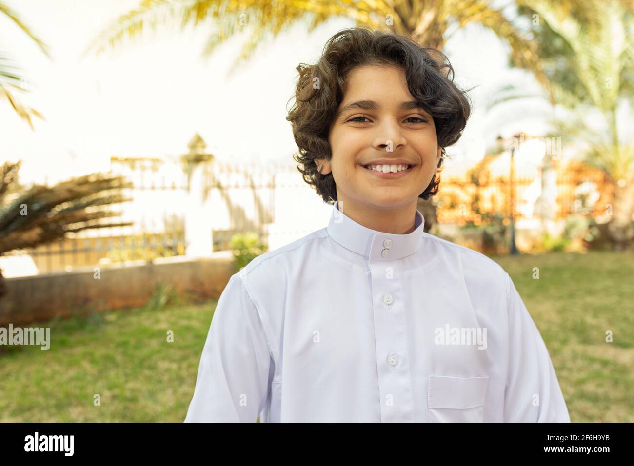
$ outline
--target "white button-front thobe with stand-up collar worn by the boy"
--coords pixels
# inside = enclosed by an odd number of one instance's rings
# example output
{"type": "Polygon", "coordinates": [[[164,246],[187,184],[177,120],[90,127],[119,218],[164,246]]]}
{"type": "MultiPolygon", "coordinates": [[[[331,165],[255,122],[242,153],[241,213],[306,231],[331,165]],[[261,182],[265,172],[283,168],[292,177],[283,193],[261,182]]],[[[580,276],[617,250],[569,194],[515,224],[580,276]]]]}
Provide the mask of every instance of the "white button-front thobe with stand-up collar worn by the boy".
{"type": "Polygon", "coordinates": [[[326,228],[224,288],[185,422],[570,422],[547,348],[496,262],[333,205],[326,228]]]}

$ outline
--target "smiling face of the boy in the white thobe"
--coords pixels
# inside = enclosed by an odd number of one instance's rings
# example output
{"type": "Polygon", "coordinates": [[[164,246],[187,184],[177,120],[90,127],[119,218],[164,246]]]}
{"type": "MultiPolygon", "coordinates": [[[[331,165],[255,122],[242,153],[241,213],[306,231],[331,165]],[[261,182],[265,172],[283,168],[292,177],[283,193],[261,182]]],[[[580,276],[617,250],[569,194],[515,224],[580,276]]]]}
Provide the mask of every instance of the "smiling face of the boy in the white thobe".
{"type": "Polygon", "coordinates": [[[346,88],[328,134],[332,159],[316,160],[322,174],[332,171],[339,204],[370,211],[417,205],[441,157],[432,115],[422,108],[399,108],[414,98],[398,67],[354,68],[346,88]],[[375,108],[346,109],[358,101],[374,101],[375,108]],[[404,172],[382,167],[379,172],[366,168],[372,164],[411,167],[404,172]]]}

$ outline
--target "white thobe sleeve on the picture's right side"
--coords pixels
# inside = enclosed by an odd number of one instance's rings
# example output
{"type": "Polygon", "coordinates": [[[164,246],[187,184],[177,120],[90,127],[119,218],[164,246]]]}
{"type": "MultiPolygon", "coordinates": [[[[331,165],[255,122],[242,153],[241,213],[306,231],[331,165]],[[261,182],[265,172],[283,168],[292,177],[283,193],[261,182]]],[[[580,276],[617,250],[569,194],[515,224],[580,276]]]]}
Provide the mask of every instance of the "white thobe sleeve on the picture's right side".
{"type": "Polygon", "coordinates": [[[550,355],[508,276],[508,376],[504,422],[570,422],[550,355]]]}

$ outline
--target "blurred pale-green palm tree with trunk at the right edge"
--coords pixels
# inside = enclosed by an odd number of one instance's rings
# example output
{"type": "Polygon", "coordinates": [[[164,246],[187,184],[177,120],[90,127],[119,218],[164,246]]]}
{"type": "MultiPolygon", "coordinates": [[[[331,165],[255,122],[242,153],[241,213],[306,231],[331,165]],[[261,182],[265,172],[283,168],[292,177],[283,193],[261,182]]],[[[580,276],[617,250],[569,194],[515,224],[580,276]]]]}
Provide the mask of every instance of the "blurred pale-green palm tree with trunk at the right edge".
{"type": "MultiPolygon", "coordinates": [[[[566,135],[586,163],[604,170],[614,182],[614,206],[607,227],[616,249],[634,238],[634,140],[631,123],[619,124],[618,113],[631,108],[634,96],[634,2],[584,0],[577,15],[564,3],[519,0],[537,14],[545,34],[559,37],[540,44],[547,74],[561,72],[567,86],[552,79],[555,102],[569,109],[566,119],[553,121],[553,136],[566,135]]],[[[630,117],[632,117],[630,112],[630,117]]]]}

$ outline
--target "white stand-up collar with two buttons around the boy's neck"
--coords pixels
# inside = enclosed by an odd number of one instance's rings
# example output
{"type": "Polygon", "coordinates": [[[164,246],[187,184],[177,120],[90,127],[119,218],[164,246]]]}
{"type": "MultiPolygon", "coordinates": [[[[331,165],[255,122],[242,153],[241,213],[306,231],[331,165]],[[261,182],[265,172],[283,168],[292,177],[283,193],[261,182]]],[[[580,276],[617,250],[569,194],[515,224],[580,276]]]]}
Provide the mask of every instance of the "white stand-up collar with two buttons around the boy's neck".
{"type": "Polygon", "coordinates": [[[407,235],[396,235],[372,230],[356,223],[339,210],[339,201],[332,206],[328,235],[337,243],[356,254],[378,261],[393,261],[410,256],[423,240],[425,217],[416,209],[415,230],[407,235]]]}

